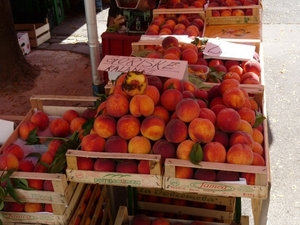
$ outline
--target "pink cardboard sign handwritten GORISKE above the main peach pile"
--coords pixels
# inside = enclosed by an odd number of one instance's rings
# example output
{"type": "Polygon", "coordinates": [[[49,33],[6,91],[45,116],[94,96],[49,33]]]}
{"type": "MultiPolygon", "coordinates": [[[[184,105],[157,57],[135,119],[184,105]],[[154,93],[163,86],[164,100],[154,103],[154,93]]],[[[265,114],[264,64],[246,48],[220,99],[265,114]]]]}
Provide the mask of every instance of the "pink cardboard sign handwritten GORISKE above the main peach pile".
{"type": "Polygon", "coordinates": [[[113,72],[110,79],[114,80],[120,72],[139,71],[147,75],[188,80],[188,64],[182,60],[152,59],[106,55],[98,70],[113,72]]]}

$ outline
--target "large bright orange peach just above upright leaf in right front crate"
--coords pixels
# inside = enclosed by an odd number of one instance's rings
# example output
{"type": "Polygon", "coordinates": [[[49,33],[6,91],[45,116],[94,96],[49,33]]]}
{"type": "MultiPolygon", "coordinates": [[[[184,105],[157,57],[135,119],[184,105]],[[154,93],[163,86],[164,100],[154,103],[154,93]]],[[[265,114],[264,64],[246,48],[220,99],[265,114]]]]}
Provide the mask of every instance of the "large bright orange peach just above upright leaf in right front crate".
{"type": "Polygon", "coordinates": [[[208,119],[196,118],[190,122],[188,134],[195,142],[208,143],[215,136],[215,126],[208,119]]]}

